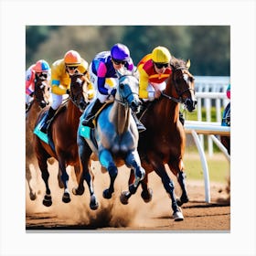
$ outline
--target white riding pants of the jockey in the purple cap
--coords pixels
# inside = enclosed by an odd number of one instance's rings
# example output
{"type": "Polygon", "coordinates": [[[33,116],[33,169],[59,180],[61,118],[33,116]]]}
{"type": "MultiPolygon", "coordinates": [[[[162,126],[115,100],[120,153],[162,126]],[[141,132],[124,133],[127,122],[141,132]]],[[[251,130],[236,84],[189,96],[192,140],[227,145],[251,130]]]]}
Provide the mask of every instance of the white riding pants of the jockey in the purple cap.
{"type": "Polygon", "coordinates": [[[108,93],[109,94],[101,94],[101,92],[98,90],[98,77],[92,72],[91,69],[91,64],[89,66],[89,74],[90,74],[90,80],[92,82],[92,84],[94,85],[94,89],[96,91],[96,98],[99,99],[99,101],[101,101],[101,103],[106,102],[109,98],[110,98],[110,93],[111,91],[116,88],[117,84],[118,84],[118,79],[117,78],[107,78],[105,80],[105,85],[104,87],[106,89],[108,89],[108,93]]]}

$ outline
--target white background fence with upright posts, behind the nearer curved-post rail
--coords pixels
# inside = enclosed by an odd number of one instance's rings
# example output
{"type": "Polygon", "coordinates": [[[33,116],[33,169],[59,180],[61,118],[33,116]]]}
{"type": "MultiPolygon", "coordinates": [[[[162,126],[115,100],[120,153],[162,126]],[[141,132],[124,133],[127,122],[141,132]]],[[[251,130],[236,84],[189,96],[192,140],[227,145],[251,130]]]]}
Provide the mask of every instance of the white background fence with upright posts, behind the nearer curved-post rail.
{"type": "MultiPolygon", "coordinates": [[[[226,90],[230,83],[229,77],[195,76],[195,89],[197,98],[197,121],[202,121],[202,107],[206,108],[206,121],[212,122],[211,109],[216,110],[217,122],[221,123],[221,108],[225,108],[229,103],[226,90]]],[[[200,134],[200,143],[204,148],[204,135],[200,134]]],[[[213,140],[208,135],[208,155],[213,155],[213,140]]]]}

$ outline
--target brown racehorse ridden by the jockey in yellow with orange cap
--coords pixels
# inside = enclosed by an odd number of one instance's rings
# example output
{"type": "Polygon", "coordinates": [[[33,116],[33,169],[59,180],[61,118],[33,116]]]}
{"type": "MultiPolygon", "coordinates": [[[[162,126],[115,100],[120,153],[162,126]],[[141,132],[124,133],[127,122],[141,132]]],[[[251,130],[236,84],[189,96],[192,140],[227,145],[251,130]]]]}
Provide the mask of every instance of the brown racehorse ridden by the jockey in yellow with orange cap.
{"type": "MultiPolygon", "coordinates": [[[[70,77],[70,93],[68,101],[63,103],[52,122],[48,127],[48,143],[41,140],[34,134],[34,146],[37,155],[37,162],[46,185],[46,194],[43,205],[50,207],[52,198],[48,187],[48,158],[54,157],[59,161],[59,187],[64,186],[62,201],[69,203],[70,195],[68,189],[69,175],[66,167],[74,166],[77,180],[80,180],[80,162],[77,147],[77,130],[79,127],[80,115],[88,104],[87,88],[89,82],[82,74],[75,74],[70,77]]],[[[42,121],[47,110],[43,110],[37,124],[42,121]]],[[[38,125],[39,125],[38,124],[38,125]]],[[[74,193],[78,195],[78,193],[74,193]]]]}

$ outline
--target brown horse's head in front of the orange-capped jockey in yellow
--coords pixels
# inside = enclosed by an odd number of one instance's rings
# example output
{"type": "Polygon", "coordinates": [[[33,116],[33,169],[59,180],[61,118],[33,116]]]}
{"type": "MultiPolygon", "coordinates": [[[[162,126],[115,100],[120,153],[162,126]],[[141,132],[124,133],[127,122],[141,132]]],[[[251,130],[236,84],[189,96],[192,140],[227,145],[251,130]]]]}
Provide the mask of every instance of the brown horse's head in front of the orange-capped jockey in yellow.
{"type": "Polygon", "coordinates": [[[89,80],[83,74],[75,73],[70,76],[70,100],[83,112],[88,105],[87,83],[89,80]]]}

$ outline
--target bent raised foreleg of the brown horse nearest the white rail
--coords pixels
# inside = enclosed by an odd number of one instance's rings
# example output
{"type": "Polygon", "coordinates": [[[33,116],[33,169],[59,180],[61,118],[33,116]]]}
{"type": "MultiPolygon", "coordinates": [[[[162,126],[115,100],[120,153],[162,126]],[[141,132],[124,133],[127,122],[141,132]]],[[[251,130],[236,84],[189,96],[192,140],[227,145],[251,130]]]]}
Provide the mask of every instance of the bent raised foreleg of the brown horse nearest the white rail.
{"type": "Polygon", "coordinates": [[[179,207],[188,202],[187,197],[187,186],[186,186],[186,174],[183,170],[183,161],[179,160],[178,162],[168,163],[170,170],[177,178],[177,182],[181,187],[182,194],[179,199],[176,199],[176,203],[179,207]]]}

